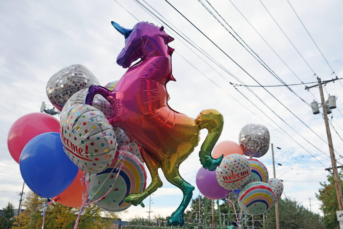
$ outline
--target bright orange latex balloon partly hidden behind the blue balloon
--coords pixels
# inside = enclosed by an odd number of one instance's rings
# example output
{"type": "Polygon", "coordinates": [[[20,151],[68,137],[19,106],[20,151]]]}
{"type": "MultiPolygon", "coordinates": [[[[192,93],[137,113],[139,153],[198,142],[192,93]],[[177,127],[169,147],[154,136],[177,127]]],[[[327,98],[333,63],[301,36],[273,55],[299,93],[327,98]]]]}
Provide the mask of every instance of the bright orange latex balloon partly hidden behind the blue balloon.
{"type": "Polygon", "coordinates": [[[55,197],[56,201],[67,207],[81,207],[82,205],[82,191],[86,192],[86,187],[80,178],[84,177],[85,173],[79,169],[73,183],[64,190],[61,194],[55,197]]]}

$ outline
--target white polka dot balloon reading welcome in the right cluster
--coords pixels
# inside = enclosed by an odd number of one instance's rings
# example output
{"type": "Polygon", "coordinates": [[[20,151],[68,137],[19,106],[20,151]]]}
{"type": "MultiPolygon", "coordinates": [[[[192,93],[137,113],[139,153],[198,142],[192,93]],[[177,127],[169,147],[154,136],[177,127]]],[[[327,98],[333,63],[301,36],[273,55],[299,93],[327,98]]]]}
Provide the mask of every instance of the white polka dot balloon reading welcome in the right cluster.
{"type": "Polygon", "coordinates": [[[216,169],[217,181],[227,190],[237,190],[249,180],[251,167],[249,160],[241,154],[229,154],[216,169]]]}

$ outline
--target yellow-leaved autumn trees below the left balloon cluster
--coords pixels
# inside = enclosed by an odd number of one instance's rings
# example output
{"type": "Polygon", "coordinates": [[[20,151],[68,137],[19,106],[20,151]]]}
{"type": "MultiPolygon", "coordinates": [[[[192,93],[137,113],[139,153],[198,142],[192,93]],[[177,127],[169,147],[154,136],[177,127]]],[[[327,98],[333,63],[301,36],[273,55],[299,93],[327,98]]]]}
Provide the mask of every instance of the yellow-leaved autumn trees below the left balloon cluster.
{"type": "MultiPolygon", "coordinates": [[[[43,225],[43,210],[47,199],[37,196],[33,192],[28,193],[23,206],[26,208],[12,229],[39,229],[43,225]]],[[[73,228],[80,208],[70,208],[59,203],[52,202],[47,206],[45,213],[45,228],[73,228]]],[[[101,210],[91,204],[86,207],[80,216],[78,228],[108,228],[117,217],[114,213],[101,210]],[[104,216],[104,218],[102,217],[104,216]]]]}

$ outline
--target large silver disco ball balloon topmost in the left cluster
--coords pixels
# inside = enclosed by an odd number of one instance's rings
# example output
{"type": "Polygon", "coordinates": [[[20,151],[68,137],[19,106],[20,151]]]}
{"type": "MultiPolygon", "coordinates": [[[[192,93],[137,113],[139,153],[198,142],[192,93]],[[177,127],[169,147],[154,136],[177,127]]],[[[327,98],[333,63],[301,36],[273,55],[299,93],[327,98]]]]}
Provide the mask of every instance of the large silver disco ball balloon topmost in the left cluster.
{"type": "Polygon", "coordinates": [[[76,92],[99,85],[93,73],[82,65],[70,65],[52,75],[46,84],[46,93],[52,105],[62,111],[64,104],[76,92]]]}

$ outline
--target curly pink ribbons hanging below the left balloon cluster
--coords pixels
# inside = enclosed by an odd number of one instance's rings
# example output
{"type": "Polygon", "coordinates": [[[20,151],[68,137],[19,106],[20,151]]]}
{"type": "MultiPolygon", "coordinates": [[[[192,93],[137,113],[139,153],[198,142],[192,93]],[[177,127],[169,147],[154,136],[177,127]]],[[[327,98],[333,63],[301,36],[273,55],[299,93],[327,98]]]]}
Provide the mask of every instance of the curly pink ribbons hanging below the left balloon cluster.
{"type": "MultiPolygon", "coordinates": [[[[123,152],[128,151],[128,149],[129,149],[128,146],[122,146],[122,147],[120,148],[120,153],[122,154],[123,152]]],[[[77,218],[76,221],[75,221],[74,229],[76,229],[76,228],[78,227],[79,220],[80,220],[80,216],[81,216],[83,210],[85,209],[85,207],[87,207],[88,205],[90,205],[90,204],[92,204],[92,203],[95,203],[95,202],[99,201],[100,199],[104,198],[104,197],[113,189],[114,184],[115,184],[115,182],[116,182],[116,180],[117,180],[117,178],[118,178],[118,176],[119,176],[119,173],[120,173],[120,171],[121,171],[121,167],[124,165],[125,158],[126,158],[126,154],[125,154],[124,157],[121,156],[121,158],[118,158],[118,160],[117,160],[115,166],[113,167],[112,171],[107,175],[107,177],[106,177],[106,179],[105,179],[105,181],[107,181],[107,179],[109,178],[109,176],[111,175],[111,173],[114,171],[114,169],[118,169],[116,178],[115,178],[114,181],[113,181],[113,185],[111,185],[111,188],[107,191],[106,194],[104,194],[102,197],[98,198],[98,199],[95,200],[95,201],[91,201],[95,195],[94,195],[91,199],[87,200],[87,197],[88,197],[87,188],[90,186],[90,183],[89,183],[90,175],[88,175],[86,179],[85,179],[84,176],[82,176],[82,177],[80,178],[81,182],[84,183],[83,185],[85,185],[86,188],[85,188],[85,192],[82,193],[82,205],[81,205],[81,209],[80,209],[79,214],[78,214],[78,218],[77,218]],[[123,159],[123,161],[121,162],[119,168],[116,168],[117,165],[118,165],[118,163],[120,162],[120,159],[123,159]]],[[[104,183],[105,183],[105,182],[104,182],[104,183]]],[[[100,188],[104,185],[104,183],[102,183],[102,184],[100,185],[100,187],[98,188],[98,190],[97,190],[95,193],[97,193],[97,192],[100,190],[100,188]]],[[[83,191],[82,191],[82,192],[83,192],[83,191]]]]}

